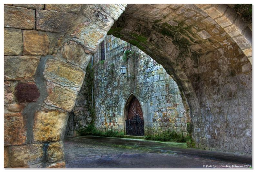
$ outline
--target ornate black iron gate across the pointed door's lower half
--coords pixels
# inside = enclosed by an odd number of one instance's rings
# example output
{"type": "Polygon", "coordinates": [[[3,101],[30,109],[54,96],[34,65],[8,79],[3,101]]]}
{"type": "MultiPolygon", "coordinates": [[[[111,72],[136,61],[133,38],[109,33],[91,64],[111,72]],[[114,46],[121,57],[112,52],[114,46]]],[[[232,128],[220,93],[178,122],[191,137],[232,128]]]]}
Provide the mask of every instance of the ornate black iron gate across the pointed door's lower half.
{"type": "Polygon", "coordinates": [[[144,136],[144,122],[138,115],[131,119],[125,120],[126,134],[144,136]]]}

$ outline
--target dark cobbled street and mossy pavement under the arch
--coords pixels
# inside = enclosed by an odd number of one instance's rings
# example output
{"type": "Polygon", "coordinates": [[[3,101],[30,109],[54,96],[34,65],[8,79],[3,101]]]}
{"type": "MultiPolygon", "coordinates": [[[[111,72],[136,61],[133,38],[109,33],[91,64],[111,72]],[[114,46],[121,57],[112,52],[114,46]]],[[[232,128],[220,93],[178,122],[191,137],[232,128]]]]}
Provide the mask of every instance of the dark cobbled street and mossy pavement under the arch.
{"type": "MultiPolygon", "coordinates": [[[[251,155],[232,154],[230,160],[216,159],[198,154],[209,155],[211,151],[141,139],[69,137],[64,141],[64,151],[66,168],[245,168],[251,165],[245,161],[237,162],[237,159],[250,161],[251,155]]],[[[227,154],[223,153],[225,156],[227,154]]]]}

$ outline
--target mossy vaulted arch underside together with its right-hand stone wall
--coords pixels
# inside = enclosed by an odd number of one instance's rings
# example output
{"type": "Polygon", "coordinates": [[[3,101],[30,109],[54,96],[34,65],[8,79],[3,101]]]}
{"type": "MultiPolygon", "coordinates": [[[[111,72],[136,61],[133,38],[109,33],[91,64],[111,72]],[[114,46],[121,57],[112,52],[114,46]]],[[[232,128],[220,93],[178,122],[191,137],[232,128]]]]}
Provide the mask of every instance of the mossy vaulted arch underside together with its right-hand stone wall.
{"type": "Polygon", "coordinates": [[[235,152],[251,149],[238,143],[247,140],[251,145],[251,133],[233,132],[245,132],[252,126],[251,30],[230,7],[128,4],[108,34],[139,47],[162,64],[178,84],[191,110],[197,148],[235,152]],[[232,35],[231,30],[236,34],[232,35]],[[250,99],[246,100],[242,92],[250,99]],[[240,99],[249,105],[247,110],[240,99]],[[241,119],[240,114],[247,116],[237,124],[243,129],[233,124],[241,119]]]}

